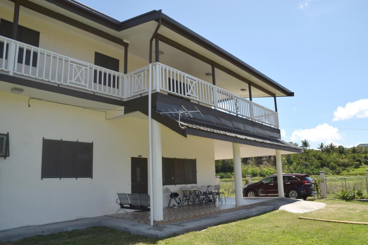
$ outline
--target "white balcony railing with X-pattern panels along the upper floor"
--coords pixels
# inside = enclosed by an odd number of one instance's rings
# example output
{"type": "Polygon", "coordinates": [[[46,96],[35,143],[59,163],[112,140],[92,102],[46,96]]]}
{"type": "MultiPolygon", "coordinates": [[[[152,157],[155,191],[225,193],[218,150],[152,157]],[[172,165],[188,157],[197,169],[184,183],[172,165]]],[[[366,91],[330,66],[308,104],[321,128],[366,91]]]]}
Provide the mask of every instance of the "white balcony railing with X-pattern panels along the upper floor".
{"type": "Polygon", "coordinates": [[[123,74],[0,36],[0,70],[123,100],[148,93],[151,75],[152,90],[279,127],[276,111],[161,63],[123,74]]]}

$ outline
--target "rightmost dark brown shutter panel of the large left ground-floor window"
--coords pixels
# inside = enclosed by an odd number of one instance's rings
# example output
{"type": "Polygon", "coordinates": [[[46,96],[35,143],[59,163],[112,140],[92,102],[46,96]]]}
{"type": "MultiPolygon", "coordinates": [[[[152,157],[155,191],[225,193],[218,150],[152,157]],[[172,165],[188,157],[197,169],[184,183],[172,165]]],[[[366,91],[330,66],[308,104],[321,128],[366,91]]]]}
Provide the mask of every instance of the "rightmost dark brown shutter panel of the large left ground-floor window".
{"type": "Polygon", "coordinates": [[[77,142],[77,149],[76,178],[92,178],[93,143],[77,142]]]}

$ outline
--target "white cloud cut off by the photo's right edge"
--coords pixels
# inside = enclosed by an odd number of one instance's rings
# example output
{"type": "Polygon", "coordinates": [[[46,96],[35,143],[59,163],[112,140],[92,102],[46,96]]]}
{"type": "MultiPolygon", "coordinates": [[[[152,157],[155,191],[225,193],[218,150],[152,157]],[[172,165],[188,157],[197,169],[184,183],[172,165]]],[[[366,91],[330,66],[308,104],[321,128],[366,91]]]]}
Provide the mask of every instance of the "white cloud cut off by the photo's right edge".
{"type": "Polygon", "coordinates": [[[345,107],[339,106],[333,112],[332,121],[347,120],[350,118],[368,117],[368,99],[360,99],[355,102],[348,102],[345,107]]]}

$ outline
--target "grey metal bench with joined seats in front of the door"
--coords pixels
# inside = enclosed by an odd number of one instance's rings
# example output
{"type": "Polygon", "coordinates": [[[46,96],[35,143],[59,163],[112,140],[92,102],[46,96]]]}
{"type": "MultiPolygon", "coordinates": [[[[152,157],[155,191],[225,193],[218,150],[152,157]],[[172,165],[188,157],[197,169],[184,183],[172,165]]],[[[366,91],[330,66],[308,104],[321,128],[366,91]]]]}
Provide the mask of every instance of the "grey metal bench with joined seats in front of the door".
{"type": "Polygon", "coordinates": [[[150,210],[149,208],[150,201],[148,194],[131,194],[131,193],[116,193],[116,194],[118,198],[116,198],[115,202],[120,206],[120,208],[115,212],[115,214],[117,214],[120,210],[127,212],[124,209],[134,209],[142,211],[150,210]]]}

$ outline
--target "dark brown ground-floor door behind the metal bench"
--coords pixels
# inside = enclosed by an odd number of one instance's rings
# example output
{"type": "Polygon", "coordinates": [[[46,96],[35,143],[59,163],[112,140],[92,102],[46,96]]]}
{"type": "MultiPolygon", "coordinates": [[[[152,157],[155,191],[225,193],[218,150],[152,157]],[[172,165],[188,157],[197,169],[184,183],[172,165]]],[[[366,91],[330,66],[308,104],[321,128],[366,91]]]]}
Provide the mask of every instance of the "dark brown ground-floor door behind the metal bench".
{"type": "Polygon", "coordinates": [[[132,157],[131,160],[131,193],[148,194],[147,159],[132,157]]]}

